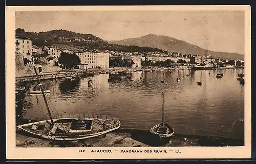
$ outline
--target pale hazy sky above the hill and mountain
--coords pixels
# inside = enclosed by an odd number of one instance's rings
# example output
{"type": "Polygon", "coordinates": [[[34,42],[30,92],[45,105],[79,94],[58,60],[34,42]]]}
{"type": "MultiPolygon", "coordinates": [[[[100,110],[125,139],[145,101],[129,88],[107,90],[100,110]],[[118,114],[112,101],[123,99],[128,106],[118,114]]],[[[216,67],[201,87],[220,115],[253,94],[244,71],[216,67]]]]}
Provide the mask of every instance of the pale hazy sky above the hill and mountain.
{"type": "Polygon", "coordinates": [[[165,35],[212,51],[244,54],[244,11],[26,11],[16,12],[16,28],[65,29],[103,40],[165,35]]]}

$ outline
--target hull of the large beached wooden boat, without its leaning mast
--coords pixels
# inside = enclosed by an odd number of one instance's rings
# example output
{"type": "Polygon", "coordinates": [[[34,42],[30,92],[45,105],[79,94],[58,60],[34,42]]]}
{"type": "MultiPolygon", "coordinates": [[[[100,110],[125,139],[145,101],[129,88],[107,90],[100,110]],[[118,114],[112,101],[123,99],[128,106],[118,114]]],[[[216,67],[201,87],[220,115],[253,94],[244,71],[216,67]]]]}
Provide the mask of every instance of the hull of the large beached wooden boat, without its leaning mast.
{"type": "MultiPolygon", "coordinates": [[[[83,114],[78,114],[75,117],[67,117],[67,118],[61,118],[61,119],[54,119],[53,122],[54,124],[58,124],[57,121],[67,121],[67,120],[83,120],[83,121],[100,121],[100,122],[106,122],[110,121],[112,122],[113,125],[110,127],[107,127],[105,129],[96,129],[95,131],[91,131],[90,129],[88,130],[72,130],[70,129],[67,134],[61,134],[61,135],[50,135],[49,131],[51,131],[52,128],[50,128],[50,122],[51,120],[44,120],[44,121],[38,121],[38,122],[33,122],[33,123],[28,123],[28,124],[23,124],[23,125],[18,125],[17,128],[25,131],[31,135],[37,136],[37,137],[42,137],[45,139],[50,139],[50,140],[79,140],[79,139],[86,139],[86,138],[92,138],[95,136],[99,136],[108,132],[111,132],[113,130],[119,129],[120,128],[120,121],[117,118],[113,118],[111,116],[100,116],[100,115],[89,115],[89,117],[86,117],[83,114]],[[108,119],[109,118],[109,119],[108,119]],[[31,129],[32,126],[37,126],[39,125],[44,125],[44,130],[41,130],[38,132],[38,130],[31,129]],[[49,129],[48,129],[49,128],[49,129]]],[[[96,123],[96,122],[95,122],[96,123]]],[[[63,126],[63,125],[62,125],[63,126]]],[[[65,126],[63,126],[65,127],[65,126]]]]}

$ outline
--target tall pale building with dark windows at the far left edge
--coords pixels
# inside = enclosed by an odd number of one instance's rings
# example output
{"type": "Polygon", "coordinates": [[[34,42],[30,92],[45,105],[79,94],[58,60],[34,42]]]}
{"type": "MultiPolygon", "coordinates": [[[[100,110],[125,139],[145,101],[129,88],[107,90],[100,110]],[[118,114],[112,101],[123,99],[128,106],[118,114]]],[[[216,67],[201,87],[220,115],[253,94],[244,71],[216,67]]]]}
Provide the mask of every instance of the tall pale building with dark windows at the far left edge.
{"type": "Polygon", "coordinates": [[[22,54],[23,58],[32,60],[32,40],[15,38],[16,53],[22,54]]]}

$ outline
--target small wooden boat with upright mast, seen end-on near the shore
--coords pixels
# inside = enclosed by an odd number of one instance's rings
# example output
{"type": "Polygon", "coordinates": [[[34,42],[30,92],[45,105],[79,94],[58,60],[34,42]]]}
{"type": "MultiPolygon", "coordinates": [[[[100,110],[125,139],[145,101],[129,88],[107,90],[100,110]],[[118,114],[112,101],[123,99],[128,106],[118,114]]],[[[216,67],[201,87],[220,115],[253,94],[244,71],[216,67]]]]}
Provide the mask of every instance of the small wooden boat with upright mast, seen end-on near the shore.
{"type": "MultiPolygon", "coordinates": [[[[162,92],[163,94],[163,92],[162,92]]],[[[174,128],[172,128],[164,120],[164,95],[162,101],[162,123],[159,123],[150,129],[151,133],[157,134],[160,138],[166,138],[174,135],[174,128]]]]}

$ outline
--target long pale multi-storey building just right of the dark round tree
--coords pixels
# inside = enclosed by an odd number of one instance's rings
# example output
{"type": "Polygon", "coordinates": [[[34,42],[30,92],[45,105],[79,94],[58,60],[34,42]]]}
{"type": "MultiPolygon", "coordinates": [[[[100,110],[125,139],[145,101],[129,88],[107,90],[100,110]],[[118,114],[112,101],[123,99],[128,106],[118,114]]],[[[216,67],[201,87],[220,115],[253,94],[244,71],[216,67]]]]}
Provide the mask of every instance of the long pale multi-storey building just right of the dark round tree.
{"type": "Polygon", "coordinates": [[[81,60],[81,69],[89,68],[109,68],[109,53],[94,53],[94,52],[71,52],[76,54],[81,60]]]}

